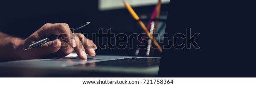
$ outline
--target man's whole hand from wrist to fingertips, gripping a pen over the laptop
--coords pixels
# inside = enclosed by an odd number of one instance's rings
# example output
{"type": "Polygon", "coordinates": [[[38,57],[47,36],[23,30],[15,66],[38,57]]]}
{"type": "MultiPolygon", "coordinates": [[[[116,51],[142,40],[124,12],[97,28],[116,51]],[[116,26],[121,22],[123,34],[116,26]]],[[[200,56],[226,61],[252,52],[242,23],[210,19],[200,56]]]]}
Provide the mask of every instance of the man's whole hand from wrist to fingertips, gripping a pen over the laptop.
{"type": "Polygon", "coordinates": [[[96,54],[94,50],[97,49],[93,41],[84,37],[83,34],[72,33],[66,23],[47,23],[25,40],[19,40],[17,43],[14,44],[15,56],[21,59],[43,58],[49,55],[61,57],[70,54],[74,50],[80,59],[87,59],[86,53],[94,56],[96,54]],[[52,34],[62,35],[62,37],[23,51],[23,48],[27,45],[52,34]]]}

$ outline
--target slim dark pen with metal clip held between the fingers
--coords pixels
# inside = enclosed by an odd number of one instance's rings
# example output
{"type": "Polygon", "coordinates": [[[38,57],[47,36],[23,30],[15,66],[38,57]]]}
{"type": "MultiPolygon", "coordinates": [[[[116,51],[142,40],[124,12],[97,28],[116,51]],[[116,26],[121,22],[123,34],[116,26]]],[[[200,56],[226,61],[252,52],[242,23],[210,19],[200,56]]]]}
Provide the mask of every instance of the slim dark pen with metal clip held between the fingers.
{"type": "MultiPolygon", "coordinates": [[[[84,26],[88,25],[89,23],[90,23],[90,22],[86,22],[86,24],[85,24],[84,26]]],[[[73,32],[76,31],[76,30],[78,30],[78,29],[81,29],[81,28],[84,27],[84,26],[81,26],[81,27],[79,27],[79,28],[74,29],[73,32]]],[[[51,41],[51,40],[54,40],[54,39],[56,39],[56,38],[58,38],[58,37],[61,37],[61,36],[58,36],[58,35],[51,35],[50,37],[44,38],[43,40],[39,40],[39,41],[37,41],[37,42],[35,42],[35,43],[32,43],[32,44],[28,45],[26,48],[23,48],[23,50],[26,51],[26,50],[28,50],[28,49],[35,48],[35,47],[40,46],[40,45],[42,45],[42,44],[44,44],[44,43],[47,43],[47,42],[49,42],[49,41],[51,41]]]]}

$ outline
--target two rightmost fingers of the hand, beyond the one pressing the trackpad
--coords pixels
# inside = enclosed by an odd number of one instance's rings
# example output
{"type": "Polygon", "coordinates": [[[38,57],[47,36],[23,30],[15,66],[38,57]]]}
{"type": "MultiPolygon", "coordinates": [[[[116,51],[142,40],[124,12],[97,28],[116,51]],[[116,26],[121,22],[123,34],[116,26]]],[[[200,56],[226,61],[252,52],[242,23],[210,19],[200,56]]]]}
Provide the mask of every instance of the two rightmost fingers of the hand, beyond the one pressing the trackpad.
{"type": "Polygon", "coordinates": [[[95,56],[96,53],[94,49],[96,49],[96,45],[93,43],[93,41],[84,37],[84,34],[76,35],[79,37],[79,40],[81,40],[82,44],[84,45],[87,54],[90,56],[95,56]]]}

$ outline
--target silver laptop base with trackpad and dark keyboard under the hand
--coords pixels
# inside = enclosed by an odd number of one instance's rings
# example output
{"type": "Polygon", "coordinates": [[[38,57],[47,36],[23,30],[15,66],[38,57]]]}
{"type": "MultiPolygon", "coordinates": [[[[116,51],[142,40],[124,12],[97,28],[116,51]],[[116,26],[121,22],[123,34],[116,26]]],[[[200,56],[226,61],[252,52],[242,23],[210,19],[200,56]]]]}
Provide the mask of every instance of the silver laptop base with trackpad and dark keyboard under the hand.
{"type": "Polygon", "coordinates": [[[157,77],[160,57],[96,55],[81,60],[76,53],[51,59],[0,63],[1,77],[157,77]]]}

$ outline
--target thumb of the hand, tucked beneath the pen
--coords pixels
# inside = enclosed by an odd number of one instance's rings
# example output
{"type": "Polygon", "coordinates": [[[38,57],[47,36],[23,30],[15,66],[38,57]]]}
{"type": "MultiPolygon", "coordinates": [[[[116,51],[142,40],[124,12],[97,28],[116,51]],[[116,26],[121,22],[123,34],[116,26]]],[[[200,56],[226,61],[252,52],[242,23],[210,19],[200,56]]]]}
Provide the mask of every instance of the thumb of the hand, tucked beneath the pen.
{"type": "Polygon", "coordinates": [[[50,54],[50,53],[57,52],[60,49],[60,46],[61,46],[61,40],[55,39],[47,43],[44,43],[43,45],[40,46],[40,48],[38,48],[37,51],[40,52],[41,54],[50,54]]]}

